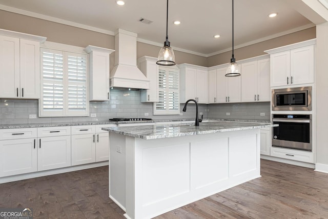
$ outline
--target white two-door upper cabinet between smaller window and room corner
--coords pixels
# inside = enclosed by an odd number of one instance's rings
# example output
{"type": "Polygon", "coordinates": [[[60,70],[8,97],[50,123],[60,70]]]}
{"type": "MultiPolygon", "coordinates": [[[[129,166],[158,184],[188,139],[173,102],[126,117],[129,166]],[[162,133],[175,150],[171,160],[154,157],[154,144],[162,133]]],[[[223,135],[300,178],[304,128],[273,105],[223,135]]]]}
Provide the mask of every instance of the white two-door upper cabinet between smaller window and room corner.
{"type": "Polygon", "coordinates": [[[180,103],[195,99],[199,104],[209,103],[209,75],[205,67],[181,64],[180,103]]]}

